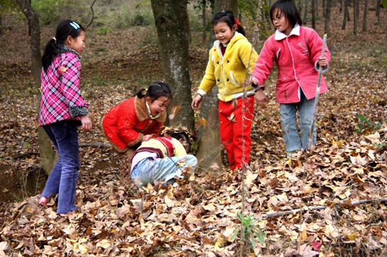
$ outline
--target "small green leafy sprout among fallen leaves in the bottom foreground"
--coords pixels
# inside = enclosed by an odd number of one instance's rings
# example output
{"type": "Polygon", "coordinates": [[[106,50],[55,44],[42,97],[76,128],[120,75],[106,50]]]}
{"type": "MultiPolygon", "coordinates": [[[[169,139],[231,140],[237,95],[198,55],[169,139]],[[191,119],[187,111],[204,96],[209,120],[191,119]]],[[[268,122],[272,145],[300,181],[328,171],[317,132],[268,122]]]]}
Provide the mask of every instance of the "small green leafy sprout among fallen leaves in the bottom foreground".
{"type": "Polygon", "coordinates": [[[256,250],[256,241],[254,240],[254,234],[258,238],[258,241],[263,244],[266,240],[266,232],[263,232],[260,227],[256,225],[256,222],[260,222],[262,219],[257,219],[253,215],[247,215],[244,217],[240,212],[236,217],[241,222],[241,227],[236,229],[236,232],[231,236],[231,241],[233,241],[238,234],[241,232],[241,239],[244,241],[246,238],[250,239],[251,245],[253,246],[254,251],[256,250]]]}

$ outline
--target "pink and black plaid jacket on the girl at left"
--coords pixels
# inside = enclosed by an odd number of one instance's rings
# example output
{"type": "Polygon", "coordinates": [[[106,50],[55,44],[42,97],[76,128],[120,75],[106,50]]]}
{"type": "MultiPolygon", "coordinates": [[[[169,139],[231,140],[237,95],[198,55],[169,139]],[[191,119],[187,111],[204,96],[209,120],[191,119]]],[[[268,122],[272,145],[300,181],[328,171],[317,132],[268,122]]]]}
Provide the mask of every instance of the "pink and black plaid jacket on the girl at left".
{"type": "Polygon", "coordinates": [[[80,115],[87,115],[88,105],[80,91],[81,68],[80,55],[63,47],[47,72],[42,69],[39,126],[60,120],[80,120],[80,115]]]}

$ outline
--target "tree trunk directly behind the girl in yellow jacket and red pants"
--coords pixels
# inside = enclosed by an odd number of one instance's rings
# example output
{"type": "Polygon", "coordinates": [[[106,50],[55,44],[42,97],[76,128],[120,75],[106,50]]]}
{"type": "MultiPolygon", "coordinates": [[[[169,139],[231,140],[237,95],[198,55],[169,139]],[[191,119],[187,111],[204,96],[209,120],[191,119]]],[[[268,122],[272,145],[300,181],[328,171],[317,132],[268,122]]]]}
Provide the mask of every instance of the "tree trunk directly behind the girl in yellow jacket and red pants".
{"type": "MultiPolygon", "coordinates": [[[[214,13],[223,10],[229,10],[236,13],[236,6],[237,0],[215,0],[214,13]]],[[[214,45],[215,40],[214,31],[210,31],[208,50],[214,45]]],[[[217,94],[218,88],[217,86],[214,86],[212,91],[205,96],[200,107],[200,116],[207,120],[207,124],[201,126],[198,131],[200,142],[196,157],[199,160],[198,168],[200,170],[208,169],[209,166],[212,166],[214,163],[222,166],[222,142],[219,134],[219,99],[217,98],[217,94]]]]}

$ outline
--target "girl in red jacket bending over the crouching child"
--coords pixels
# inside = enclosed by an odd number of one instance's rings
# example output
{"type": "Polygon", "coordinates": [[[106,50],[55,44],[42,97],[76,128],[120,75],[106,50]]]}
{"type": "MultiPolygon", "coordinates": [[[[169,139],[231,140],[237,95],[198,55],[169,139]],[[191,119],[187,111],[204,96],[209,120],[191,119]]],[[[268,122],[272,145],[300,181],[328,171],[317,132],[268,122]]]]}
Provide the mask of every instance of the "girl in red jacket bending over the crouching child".
{"type": "Polygon", "coordinates": [[[172,92],[168,84],[156,81],[148,89],[138,91],[136,97],[111,108],[102,118],[102,131],[119,152],[119,170],[124,181],[130,179],[127,175],[136,148],[141,142],[160,134],[171,100],[172,92]]]}

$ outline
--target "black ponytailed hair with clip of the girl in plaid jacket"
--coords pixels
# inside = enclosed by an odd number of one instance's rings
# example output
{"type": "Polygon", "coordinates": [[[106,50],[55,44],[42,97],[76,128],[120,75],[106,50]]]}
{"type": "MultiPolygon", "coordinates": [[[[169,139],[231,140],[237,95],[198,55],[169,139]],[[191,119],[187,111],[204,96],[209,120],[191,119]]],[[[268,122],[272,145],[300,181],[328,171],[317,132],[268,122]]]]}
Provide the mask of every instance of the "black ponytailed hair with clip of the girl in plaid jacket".
{"type": "Polygon", "coordinates": [[[59,54],[58,45],[64,45],[67,37],[71,35],[76,39],[85,28],[75,21],[61,21],[56,28],[55,37],[48,40],[42,56],[43,69],[46,72],[53,59],[59,54]]]}

